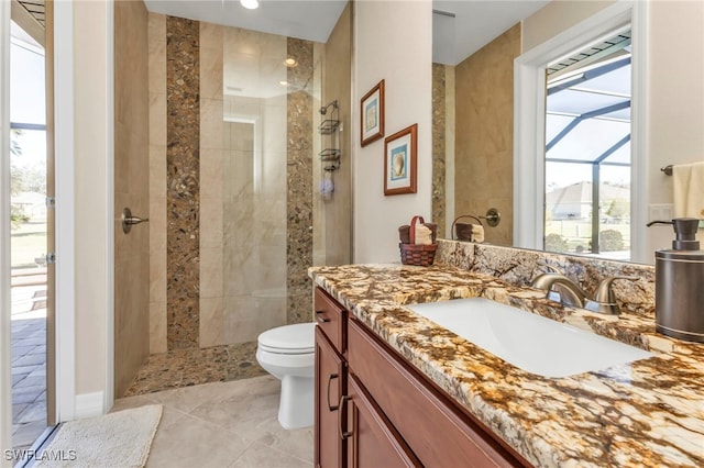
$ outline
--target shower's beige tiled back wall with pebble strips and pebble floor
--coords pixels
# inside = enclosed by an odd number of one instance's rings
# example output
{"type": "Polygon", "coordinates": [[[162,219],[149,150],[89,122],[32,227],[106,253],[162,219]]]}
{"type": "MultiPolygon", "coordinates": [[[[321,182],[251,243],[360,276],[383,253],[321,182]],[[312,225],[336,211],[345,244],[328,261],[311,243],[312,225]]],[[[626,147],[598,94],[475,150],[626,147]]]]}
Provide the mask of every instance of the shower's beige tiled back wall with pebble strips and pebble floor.
{"type": "MultiPolygon", "coordinates": [[[[263,375],[257,335],[311,320],[324,44],[157,13],[147,23],[148,356],[119,372],[117,398],[263,375]]],[[[129,298],[116,293],[116,309],[129,298]]],[[[128,309],[118,361],[144,343],[133,337],[144,311],[128,309]]]]}

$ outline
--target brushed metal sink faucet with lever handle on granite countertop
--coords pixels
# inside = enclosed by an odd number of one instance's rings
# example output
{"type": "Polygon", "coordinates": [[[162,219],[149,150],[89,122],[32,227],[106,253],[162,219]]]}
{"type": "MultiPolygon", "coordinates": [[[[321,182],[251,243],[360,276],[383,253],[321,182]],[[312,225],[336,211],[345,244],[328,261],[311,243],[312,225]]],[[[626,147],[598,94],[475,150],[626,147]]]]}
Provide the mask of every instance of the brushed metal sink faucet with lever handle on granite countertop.
{"type": "Polygon", "coordinates": [[[616,296],[612,289],[612,283],[617,279],[636,281],[638,280],[638,277],[615,276],[602,280],[596,288],[593,300],[586,297],[584,290],[582,290],[576,282],[558,272],[538,275],[530,282],[530,286],[546,290],[546,298],[560,302],[561,304],[574,305],[603,314],[618,315],[620,310],[616,302],[616,296]]]}

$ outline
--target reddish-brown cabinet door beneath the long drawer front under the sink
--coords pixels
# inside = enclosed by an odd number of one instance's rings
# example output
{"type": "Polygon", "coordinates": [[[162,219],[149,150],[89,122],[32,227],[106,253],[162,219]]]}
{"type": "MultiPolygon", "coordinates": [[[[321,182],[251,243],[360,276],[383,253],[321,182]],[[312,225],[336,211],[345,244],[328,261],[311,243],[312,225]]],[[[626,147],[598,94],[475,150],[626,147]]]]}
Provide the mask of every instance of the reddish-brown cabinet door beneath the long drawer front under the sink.
{"type": "Polygon", "coordinates": [[[420,467],[420,461],[406,445],[384,413],[354,376],[349,377],[348,397],[343,400],[348,424],[348,466],[352,468],[420,467]]]}

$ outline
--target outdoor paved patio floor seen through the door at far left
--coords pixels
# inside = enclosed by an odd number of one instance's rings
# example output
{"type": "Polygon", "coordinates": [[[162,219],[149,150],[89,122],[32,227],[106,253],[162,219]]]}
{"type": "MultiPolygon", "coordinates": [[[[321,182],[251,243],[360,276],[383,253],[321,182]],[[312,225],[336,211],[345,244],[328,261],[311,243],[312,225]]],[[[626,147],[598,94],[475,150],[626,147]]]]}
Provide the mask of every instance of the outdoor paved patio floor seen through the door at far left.
{"type": "Polygon", "coordinates": [[[46,428],[45,270],[13,275],[11,321],[12,446],[24,449],[46,428]]]}

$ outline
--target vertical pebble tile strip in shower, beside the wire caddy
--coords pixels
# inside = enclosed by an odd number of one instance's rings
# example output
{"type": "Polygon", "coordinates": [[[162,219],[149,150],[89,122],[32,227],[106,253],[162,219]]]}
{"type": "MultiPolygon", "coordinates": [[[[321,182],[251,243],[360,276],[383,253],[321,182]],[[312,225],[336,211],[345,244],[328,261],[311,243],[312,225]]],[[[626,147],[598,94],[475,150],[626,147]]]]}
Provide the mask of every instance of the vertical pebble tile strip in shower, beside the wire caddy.
{"type": "Polygon", "coordinates": [[[312,266],[312,43],[288,37],[286,264],[287,323],[310,322],[312,266]]]}

